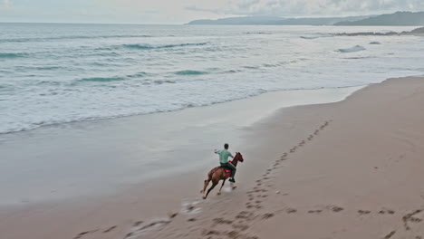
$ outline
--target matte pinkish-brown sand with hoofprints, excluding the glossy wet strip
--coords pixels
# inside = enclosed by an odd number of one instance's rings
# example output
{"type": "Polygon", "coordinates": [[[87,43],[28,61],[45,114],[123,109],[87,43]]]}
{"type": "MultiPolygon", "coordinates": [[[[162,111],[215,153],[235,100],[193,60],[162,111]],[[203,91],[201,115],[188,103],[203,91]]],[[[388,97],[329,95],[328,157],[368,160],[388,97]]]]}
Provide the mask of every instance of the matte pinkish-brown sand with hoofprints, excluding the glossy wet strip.
{"type": "Polygon", "coordinates": [[[28,207],[18,215],[10,208],[0,212],[0,238],[418,239],[424,236],[423,105],[424,78],[410,77],[341,102],[285,108],[246,128],[236,190],[217,196],[216,189],[179,210],[172,199],[198,191],[205,171],[178,181],[164,177],[143,192],[134,186],[119,200],[28,207]],[[168,201],[155,214],[155,204],[168,201]],[[149,211],[140,209],[146,205],[149,211]],[[45,217],[46,208],[56,213],[45,217]],[[11,232],[14,237],[5,236],[11,232]]]}

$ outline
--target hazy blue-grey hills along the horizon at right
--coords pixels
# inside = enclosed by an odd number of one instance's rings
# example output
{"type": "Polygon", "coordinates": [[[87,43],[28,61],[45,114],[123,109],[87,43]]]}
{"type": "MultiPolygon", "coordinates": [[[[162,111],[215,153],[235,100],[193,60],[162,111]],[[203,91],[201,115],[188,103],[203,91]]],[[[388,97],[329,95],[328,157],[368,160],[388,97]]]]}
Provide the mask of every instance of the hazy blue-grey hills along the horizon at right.
{"type": "Polygon", "coordinates": [[[242,16],[217,20],[195,20],[188,24],[268,24],[268,25],[424,25],[424,12],[347,17],[284,18],[278,16],[242,16]]]}

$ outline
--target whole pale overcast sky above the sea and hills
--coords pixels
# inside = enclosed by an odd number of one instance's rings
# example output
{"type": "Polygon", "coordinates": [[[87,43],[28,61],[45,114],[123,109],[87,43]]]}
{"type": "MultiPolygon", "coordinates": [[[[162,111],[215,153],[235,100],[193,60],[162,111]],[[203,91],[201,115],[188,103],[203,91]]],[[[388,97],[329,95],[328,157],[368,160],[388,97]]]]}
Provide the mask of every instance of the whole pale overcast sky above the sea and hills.
{"type": "Polygon", "coordinates": [[[0,22],[184,24],[236,15],[424,11],[424,0],[0,0],[0,22]]]}

